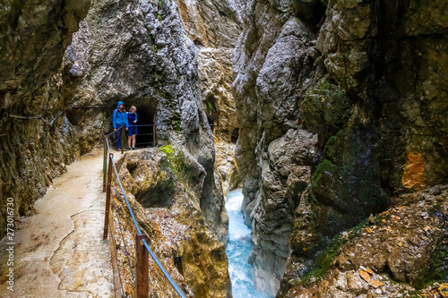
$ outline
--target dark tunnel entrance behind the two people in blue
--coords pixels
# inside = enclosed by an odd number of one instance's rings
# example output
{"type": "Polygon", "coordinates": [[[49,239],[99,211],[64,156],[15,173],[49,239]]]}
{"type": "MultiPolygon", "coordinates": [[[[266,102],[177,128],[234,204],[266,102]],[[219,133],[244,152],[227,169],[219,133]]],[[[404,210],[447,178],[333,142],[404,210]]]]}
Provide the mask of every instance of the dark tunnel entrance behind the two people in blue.
{"type": "Polygon", "coordinates": [[[137,136],[135,137],[135,147],[144,148],[156,145],[156,114],[149,106],[130,105],[126,106],[127,111],[131,106],[137,107],[137,136]]]}

